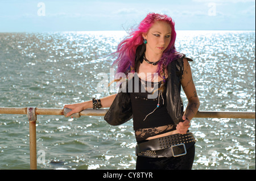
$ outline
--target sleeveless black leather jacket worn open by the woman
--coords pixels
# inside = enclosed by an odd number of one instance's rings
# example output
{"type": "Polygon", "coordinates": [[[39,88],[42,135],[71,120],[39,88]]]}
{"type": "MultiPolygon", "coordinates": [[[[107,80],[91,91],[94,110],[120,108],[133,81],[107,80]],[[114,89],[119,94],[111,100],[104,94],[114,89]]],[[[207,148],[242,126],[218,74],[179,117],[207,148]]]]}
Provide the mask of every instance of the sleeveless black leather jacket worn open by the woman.
{"type": "MultiPolygon", "coordinates": [[[[144,52],[144,46],[139,46],[136,51],[135,65],[139,60],[141,60],[144,52]]],[[[168,79],[166,85],[166,99],[167,99],[167,111],[171,116],[175,124],[179,124],[180,121],[183,121],[183,101],[180,96],[181,91],[181,76],[183,75],[183,58],[172,61],[167,66],[168,79]]],[[[193,61],[190,58],[187,58],[188,61],[193,61]]],[[[136,67],[136,66],[135,66],[136,67]]],[[[132,79],[130,79],[131,81],[132,79]]],[[[125,82],[123,82],[125,83],[125,82]]],[[[122,83],[122,86],[123,86],[122,83]]],[[[128,81],[126,81],[128,85],[128,81]]],[[[126,86],[128,87],[128,86],[126,86]]],[[[129,92],[126,89],[126,92],[118,92],[117,96],[109,108],[109,111],[104,116],[104,119],[110,125],[120,125],[126,121],[133,118],[133,112],[131,109],[131,100],[129,92]]]]}

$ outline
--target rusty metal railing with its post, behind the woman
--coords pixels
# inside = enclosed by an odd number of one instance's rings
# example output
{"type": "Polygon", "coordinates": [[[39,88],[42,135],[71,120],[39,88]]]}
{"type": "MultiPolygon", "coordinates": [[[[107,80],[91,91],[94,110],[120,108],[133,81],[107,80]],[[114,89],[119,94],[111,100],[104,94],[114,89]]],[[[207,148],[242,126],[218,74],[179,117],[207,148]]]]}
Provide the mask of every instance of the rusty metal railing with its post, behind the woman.
{"type": "MultiPolygon", "coordinates": [[[[66,115],[70,110],[68,108],[36,108],[36,107],[0,107],[0,114],[21,114],[27,115],[30,129],[30,169],[35,170],[36,164],[36,120],[37,115],[66,115]]],[[[73,114],[73,117],[80,116],[104,116],[108,109],[93,110],[86,109],[80,113],[73,114]]],[[[70,117],[71,117],[70,116],[70,117]]],[[[66,117],[66,116],[65,116],[66,117]]],[[[197,111],[195,117],[209,118],[241,118],[255,119],[255,112],[245,111],[197,111]]]]}

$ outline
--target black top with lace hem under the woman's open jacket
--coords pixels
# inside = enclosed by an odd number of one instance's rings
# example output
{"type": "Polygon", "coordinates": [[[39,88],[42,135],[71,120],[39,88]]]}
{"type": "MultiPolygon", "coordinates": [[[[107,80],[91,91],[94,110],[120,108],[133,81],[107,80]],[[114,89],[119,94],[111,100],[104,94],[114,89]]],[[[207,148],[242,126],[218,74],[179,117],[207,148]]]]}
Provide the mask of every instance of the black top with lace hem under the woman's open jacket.
{"type": "Polygon", "coordinates": [[[133,92],[130,92],[130,97],[137,142],[176,129],[167,112],[165,92],[159,94],[160,83],[146,82],[137,74],[133,77],[133,92]],[[154,90],[154,94],[151,94],[154,90]]]}

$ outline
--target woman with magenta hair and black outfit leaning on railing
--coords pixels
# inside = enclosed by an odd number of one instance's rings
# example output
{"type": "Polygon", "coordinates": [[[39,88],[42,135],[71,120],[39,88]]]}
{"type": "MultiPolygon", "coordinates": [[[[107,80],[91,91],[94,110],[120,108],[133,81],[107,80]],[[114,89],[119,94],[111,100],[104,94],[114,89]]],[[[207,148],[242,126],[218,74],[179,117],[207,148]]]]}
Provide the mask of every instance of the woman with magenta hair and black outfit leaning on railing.
{"type": "Polygon", "coordinates": [[[195,138],[188,128],[200,103],[188,63],[192,60],[176,51],[175,39],[170,17],[148,14],[115,52],[117,72],[127,77],[116,80],[123,80],[118,94],[64,106],[72,110],[67,116],[110,107],[104,119],[111,125],[133,118],[136,169],[192,169],[195,138]],[[184,113],[181,86],[188,98],[184,113]]]}

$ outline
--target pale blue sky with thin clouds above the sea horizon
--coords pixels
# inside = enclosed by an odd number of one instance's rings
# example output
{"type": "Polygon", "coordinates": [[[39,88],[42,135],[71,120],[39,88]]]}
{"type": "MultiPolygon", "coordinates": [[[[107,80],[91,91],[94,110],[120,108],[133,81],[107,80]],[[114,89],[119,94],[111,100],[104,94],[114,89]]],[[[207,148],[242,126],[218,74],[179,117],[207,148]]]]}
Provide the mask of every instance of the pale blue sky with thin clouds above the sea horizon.
{"type": "Polygon", "coordinates": [[[255,0],[0,0],[0,32],[129,30],[148,12],[176,30],[255,31],[255,0]]]}

